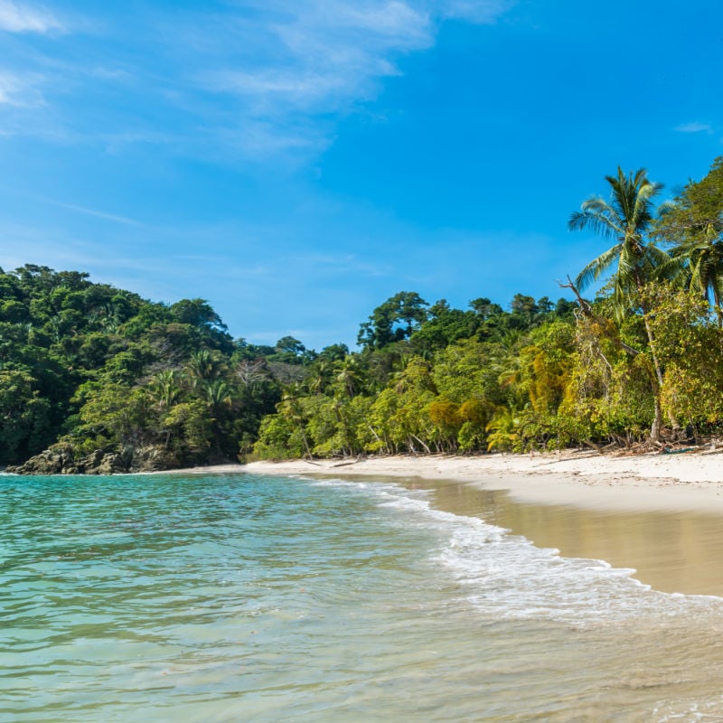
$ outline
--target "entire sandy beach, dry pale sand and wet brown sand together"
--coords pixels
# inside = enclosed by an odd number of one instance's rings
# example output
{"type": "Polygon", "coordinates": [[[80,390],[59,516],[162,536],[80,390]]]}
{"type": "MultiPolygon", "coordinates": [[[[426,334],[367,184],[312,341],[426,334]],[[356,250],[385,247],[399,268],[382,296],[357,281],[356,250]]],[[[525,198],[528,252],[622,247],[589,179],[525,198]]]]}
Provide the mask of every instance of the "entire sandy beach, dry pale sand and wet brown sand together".
{"type": "Polygon", "coordinates": [[[232,469],[396,480],[434,489],[439,509],[482,514],[563,557],[605,560],[662,592],[723,597],[723,457],[718,454],[396,456],[256,462],[232,469]]]}

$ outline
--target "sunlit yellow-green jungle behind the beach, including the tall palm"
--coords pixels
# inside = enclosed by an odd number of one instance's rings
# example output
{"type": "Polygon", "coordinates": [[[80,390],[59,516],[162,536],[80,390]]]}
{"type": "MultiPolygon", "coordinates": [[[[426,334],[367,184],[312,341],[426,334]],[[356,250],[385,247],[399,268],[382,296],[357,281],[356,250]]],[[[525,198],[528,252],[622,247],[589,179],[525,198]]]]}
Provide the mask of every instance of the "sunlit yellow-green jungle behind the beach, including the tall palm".
{"type": "Polygon", "coordinates": [[[517,295],[470,309],[403,292],[377,307],[360,352],[322,354],[264,419],[262,458],[662,446],[723,423],[723,159],[655,206],[643,170],[570,230],[612,244],[567,287],[576,302],[517,295]],[[607,285],[594,301],[582,291],[607,285]]]}

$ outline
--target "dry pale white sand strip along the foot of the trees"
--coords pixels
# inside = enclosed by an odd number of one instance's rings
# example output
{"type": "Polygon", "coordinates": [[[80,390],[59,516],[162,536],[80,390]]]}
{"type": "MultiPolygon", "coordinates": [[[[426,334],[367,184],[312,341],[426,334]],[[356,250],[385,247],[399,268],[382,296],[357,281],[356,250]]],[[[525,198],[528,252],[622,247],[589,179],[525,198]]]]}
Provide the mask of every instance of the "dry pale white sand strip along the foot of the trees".
{"type": "Polygon", "coordinates": [[[533,456],[397,456],[373,457],[352,464],[338,460],[254,462],[205,471],[422,477],[505,489],[525,502],[621,511],[723,512],[723,451],[636,456],[568,452],[533,456]]]}

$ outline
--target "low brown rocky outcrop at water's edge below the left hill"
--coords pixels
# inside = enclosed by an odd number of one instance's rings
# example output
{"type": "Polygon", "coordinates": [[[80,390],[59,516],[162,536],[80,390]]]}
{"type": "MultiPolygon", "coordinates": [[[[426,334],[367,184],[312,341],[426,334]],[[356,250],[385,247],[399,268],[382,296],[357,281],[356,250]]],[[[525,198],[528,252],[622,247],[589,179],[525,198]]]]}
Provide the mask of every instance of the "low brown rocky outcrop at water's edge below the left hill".
{"type": "Polygon", "coordinates": [[[162,472],[181,466],[176,456],[157,446],[127,447],[117,450],[96,449],[76,459],[71,445],[61,442],[31,457],[23,465],[8,466],[13,474],[127,474],[162,472]]]}

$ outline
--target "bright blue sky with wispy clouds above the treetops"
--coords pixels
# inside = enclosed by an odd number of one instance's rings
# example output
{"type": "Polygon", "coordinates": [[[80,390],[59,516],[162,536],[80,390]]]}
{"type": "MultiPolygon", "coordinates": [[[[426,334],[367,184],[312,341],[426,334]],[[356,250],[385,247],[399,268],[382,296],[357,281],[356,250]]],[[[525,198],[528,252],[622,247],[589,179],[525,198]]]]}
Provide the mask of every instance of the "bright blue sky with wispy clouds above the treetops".
{"type": "Polygon", "coordinates": [[[604,176],[723,154],[723,6],[0,0],[0,267],[352,345],[398,291],[561,296],[604,176]]]}

